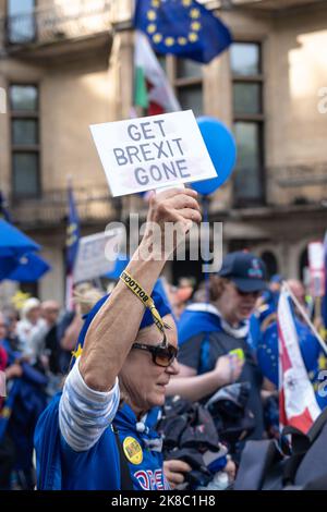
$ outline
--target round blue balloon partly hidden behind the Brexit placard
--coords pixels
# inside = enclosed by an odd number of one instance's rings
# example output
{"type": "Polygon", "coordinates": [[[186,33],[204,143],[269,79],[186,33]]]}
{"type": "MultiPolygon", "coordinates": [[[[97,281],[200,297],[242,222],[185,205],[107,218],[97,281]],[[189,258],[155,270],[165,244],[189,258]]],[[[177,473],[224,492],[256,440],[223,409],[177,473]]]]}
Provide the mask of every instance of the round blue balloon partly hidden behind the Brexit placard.
{"type": "Polygon", "coordinates": [[[217,178],[197,181],[192,187],[209,195],[230,176],[237,161],[237,145],[230,130],[215,118],[197,118],[197,124],[217,172],[217,178]]]}

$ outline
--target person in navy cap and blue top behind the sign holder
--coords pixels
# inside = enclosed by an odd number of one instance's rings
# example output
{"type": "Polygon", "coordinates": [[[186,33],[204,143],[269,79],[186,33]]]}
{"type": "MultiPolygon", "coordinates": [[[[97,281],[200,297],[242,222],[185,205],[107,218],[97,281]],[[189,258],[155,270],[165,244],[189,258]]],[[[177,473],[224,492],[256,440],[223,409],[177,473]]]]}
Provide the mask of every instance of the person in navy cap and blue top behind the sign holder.
{"type": "Polygon", "coordinates": [[[250,348],[249,318],[266,288],[264,261],[234,252],[210,278],[210,300],[186,307],[179,321],[180,373],[167,393],[207,402],[221,387],[250,382],[249,407],[255,415],[253,439],[263,435],[262,375],[250,348]]]}

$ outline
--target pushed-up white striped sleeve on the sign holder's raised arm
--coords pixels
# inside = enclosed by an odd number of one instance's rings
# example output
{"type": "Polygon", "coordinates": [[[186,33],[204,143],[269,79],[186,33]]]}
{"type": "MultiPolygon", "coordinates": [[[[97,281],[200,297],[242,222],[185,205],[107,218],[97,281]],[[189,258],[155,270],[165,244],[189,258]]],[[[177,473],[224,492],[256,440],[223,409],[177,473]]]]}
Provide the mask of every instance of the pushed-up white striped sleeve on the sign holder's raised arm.
{"type": "Polygon", "coordinates": [[[83,380],[80,358],[69,374],[59,404],[59,427],[66,443],[77,452],[89,450],[112,422],[119,406],[118,378],[108,392],[95,391],[83,380]]]}

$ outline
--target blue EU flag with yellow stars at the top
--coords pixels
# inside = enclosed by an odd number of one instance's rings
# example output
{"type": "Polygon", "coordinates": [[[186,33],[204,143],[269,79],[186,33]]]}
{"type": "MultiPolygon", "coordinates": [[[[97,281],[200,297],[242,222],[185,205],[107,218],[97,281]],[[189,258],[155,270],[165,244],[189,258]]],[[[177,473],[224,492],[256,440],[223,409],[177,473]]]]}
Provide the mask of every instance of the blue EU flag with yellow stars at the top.
{"type": "Polygon", "coordinates": [[[196,0],[137,0],[135,28],[158,53],[173,53],[204,64],[232,41],[223,23],[196,0]]]}

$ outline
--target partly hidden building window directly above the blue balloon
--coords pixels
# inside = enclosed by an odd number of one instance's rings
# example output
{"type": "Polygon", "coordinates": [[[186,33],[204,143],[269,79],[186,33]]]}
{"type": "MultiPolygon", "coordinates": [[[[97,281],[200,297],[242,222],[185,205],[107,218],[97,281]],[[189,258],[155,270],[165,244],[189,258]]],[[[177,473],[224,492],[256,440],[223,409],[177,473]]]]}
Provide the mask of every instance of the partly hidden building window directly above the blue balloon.
{"type": "Polygon", "coordinates": [[[173,86],[183,110],[193,110],[194,115],[203,114],[202,64],[189,59],[173,61],[173,86]]]}

